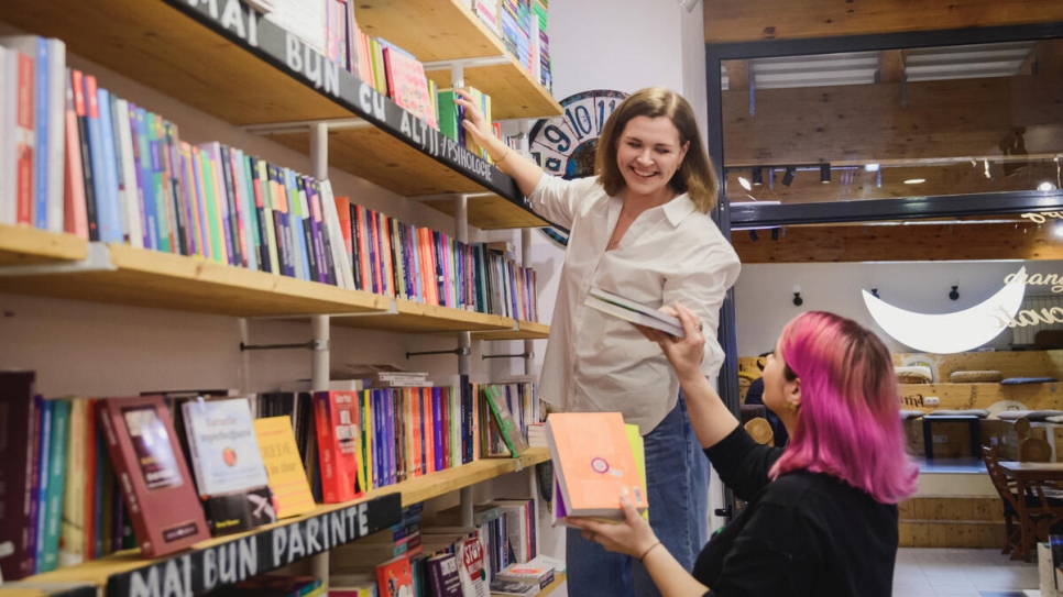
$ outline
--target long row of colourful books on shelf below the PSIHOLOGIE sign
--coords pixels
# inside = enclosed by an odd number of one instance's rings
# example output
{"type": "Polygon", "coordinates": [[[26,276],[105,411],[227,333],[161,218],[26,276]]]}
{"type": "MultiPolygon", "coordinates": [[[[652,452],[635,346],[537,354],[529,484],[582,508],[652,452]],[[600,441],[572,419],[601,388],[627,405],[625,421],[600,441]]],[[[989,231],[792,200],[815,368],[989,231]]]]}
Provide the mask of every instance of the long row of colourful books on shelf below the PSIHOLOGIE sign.
{"type": "MultiPolygon", "coordinates": [[[[53,47],[63,47],[57,40],[17,40],[48,47],[53,57],[64,55],[53,47]]],[[[239,148],[182,142],[174,123],[109,93],[94,76],[65,69],[55,58],[45,60],[47,82],[56,69],[63,73],[58,89],[65,92],[66,109],[65,118],[51,122],[44,118],[51,114],[36,114],[39,102],[32,99],[44,97],[36,77],[41,60],[18,49],[3,52],[9,58],[4,65],[17,73],[12,80],[23,82],[15,86],[21,90],[17,96],[0,99],[0,113],[8,115],[3,106],[17,107],[11,113],[20,114],[21,123],[18,134],[0,136],[17,143],[4,145],[14,151],[3,154],[0,174],[18,173],[0,176],[9,183],[0,195],[0,223],[57,226],[90,241],[125,242],[432,305],[538,319],[534,272],[500,259],[484,245],[458,243],[333,197],[327,181],[239,148]],[[8,104],[12,98],[15,103],[8,104]],[[53,152],[40,148],[56,131],[63,133],[57,146],[64,151],[58,162],[48,162],[53,152]],[[50,179],[35,174],[55,164],[59,184],[42,188],[39,184],[50,179]],[[56,189],[62,190],[57,202],[56,189]]],[[[4,74],[10,75],[8,69],[4,74]]]]}

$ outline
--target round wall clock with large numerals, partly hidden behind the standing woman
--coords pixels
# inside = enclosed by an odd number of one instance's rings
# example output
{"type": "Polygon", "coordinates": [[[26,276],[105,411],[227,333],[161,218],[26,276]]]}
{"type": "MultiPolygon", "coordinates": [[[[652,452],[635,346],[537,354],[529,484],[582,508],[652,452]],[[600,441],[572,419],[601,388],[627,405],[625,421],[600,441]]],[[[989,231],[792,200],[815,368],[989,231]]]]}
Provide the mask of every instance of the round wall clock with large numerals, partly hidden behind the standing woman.
{"type": "MultiPolygon", "coordinates": [[[[609,115],[626,97],[627,93],[611,89],[582,91],[560,101],[561,115],[536,122],[528,148],[543,170],[568,180],[593,176],[598,137],[609,115]]],[[[559,245],[568,245],[567,230],[539,230],[559,245]]]]}

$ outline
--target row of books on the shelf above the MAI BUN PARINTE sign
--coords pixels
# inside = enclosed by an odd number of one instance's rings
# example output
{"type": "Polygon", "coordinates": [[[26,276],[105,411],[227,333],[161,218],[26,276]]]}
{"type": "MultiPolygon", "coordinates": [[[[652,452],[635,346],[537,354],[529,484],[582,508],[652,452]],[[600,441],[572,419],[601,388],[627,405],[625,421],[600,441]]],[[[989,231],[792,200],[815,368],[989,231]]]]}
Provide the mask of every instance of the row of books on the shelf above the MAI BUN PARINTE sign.
{"type": "MultiPolygon", "coordinates": [[[[135,545],[153,557],[354,499],[492,454],[491,430],[508,433],[506,453],[524,446],[505,400],[478,408],[481,388],[460,379],[453,387],[107,399],[42,399],[34,383],[32,372],[0,372],[9,414],[0,507],[11,513],[0,541],[15,548],[0,565],[11,579],[135,545]],[[481,417],[494,417],[494,427],[481,417]]],[[[505,394],[487,388],[483,400],[505,394]]]]}

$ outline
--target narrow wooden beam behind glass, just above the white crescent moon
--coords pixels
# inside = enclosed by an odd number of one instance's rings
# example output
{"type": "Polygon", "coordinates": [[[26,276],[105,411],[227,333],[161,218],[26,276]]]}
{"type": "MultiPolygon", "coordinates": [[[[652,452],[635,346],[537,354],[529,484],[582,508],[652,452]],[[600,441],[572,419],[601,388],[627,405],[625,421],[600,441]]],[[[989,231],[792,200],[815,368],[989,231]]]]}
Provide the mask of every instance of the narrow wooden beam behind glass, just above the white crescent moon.
{"type": "Polygon", "coordinates": [[[732,232],[744,264],[907,261],[1063,259],[1055,224],[920,224],[786,226],[732,232]]]}

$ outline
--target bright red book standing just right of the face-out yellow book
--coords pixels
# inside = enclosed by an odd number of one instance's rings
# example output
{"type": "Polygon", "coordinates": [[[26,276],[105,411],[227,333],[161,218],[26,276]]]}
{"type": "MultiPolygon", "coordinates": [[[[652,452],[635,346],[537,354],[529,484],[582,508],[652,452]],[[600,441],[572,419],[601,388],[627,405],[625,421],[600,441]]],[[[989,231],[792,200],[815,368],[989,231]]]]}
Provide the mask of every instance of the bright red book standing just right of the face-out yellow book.
{"type": "Polygon", "coordinates": [[[364,493],[358,483],[362,449],[358,402],[357,391],[314,393],[321,498],[325,504],[350,501],[364,493]]]}

